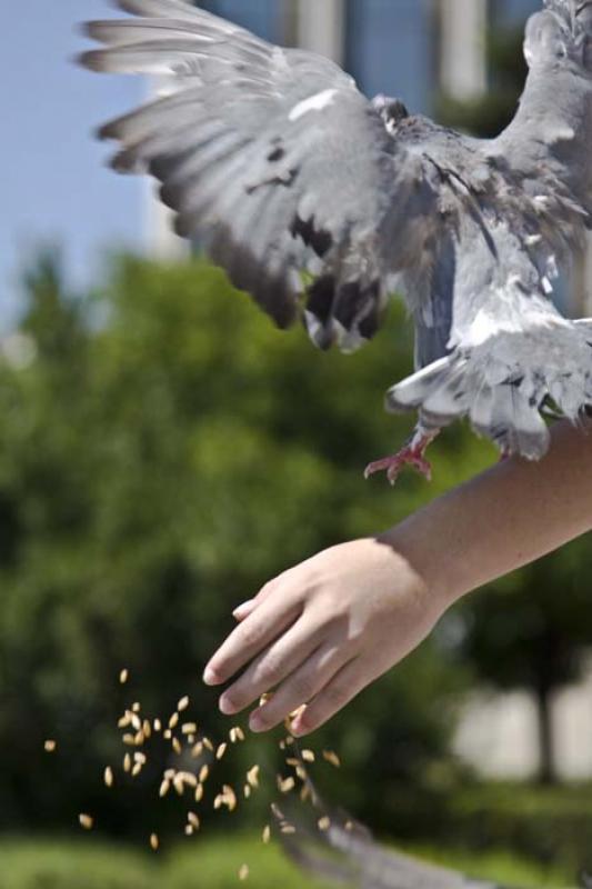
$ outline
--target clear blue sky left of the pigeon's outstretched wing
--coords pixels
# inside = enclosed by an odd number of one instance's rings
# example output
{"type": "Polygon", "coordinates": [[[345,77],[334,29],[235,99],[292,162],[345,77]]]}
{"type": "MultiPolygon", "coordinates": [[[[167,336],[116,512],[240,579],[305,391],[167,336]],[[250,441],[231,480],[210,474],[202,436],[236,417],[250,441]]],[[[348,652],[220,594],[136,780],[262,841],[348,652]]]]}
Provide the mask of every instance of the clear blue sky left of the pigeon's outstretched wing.
{"type": "Polygon", "coordinates": [[[18,300],[19,268],[36,244],[64,248],[74,284],[100,272],[102,250],[142,242],[147,183],[104,166],[93,128],[124,111],[146,86],[71,63],[76,23],[112,14],[104,0],[19,0],[2,9],[0,37],[0,326],[18,300]]]}

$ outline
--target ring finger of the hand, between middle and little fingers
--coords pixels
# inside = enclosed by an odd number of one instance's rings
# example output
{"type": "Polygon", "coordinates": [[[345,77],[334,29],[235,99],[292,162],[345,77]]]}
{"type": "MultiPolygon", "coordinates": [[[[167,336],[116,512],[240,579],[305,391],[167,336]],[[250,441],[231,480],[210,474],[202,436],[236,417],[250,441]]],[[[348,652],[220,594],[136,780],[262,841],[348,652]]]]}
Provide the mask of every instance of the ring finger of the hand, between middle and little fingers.
{"type": "Polygon", "coordinates": [[[348,662],[352,662],[351,650],[342,643],[319,647],[282,682],[267,703],[253,710],[249,720],[251,730],[268,731],[283,722],[290,713],[318,696],[348,662]]]}

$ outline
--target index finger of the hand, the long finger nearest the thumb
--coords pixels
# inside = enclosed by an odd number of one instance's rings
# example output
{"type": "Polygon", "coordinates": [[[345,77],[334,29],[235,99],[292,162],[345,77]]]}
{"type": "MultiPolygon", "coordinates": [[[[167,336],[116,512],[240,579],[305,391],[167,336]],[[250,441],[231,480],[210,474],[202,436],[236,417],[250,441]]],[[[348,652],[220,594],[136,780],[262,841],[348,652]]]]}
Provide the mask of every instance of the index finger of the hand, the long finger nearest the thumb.
{"type": "Polygon", "coordinates": [[[220,646],[205,667],[203,681],[219,686],[229,680],[290,627],[300,613],[301,606],[294,605],[292,598],[268,598],[220,646]]]}

